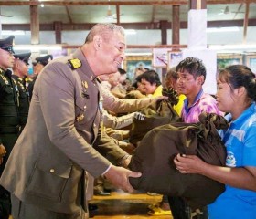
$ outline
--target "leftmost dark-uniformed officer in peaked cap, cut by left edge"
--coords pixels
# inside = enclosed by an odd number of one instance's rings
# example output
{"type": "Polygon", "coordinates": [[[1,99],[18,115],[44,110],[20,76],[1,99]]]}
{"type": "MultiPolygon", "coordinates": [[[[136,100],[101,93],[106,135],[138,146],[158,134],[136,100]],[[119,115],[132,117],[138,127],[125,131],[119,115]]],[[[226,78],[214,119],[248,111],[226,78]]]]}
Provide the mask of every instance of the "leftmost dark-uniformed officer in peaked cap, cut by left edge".
{"type": "MultiPolygon", "coordinates": [[[[8,68],[14,66],[14,36],[0,39],[0,145],[5,147],[6,154],[0,165],[0,174],[16,142],[19,134],[18,89],[16,81],[11,77],[8,68]]],[[[0,186],[0,218],[8,218],[10,214],[10,195],[0,186]]]]}

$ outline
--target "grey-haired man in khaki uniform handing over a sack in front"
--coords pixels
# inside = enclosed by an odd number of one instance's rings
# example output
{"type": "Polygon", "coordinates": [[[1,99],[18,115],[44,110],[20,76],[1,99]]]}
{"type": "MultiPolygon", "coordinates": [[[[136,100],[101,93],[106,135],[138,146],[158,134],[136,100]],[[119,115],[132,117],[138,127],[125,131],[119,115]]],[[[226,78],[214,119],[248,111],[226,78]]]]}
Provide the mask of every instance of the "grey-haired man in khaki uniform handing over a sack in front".
{"type": "Polygon", "coordinates": [[[27,126],[0,180],[12,193],[15,219],[85,218],[84,171],[133,191],[128,178],[141,174],[105,158],[123,163],[127,153],[107,138],[97,139],[101,104],[96,77],[117,71],[124,49],[123,27],[98,24],[73,55],[51,61],[37,77],[27,126]]]}

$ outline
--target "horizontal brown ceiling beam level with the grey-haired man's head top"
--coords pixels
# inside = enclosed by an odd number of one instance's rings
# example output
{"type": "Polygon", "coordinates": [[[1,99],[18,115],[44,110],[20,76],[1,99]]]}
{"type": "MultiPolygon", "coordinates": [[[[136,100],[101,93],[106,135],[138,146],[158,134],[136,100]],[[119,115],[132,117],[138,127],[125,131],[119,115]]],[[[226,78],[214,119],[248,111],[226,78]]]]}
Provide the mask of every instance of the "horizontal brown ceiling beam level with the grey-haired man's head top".
{"type": "MultiPolygon", "coordinates": [[[[90,30],[95,24],[62,24],[62,30],[90,30]]],[[[125,29],[159,29],[159,22],[149,23],[121,23],[125,29]]],[[[244,26],[244,20],[223,20],[223,21],[208,21],[208,27],[229,27],[229,26],[244,26]]],[[[256,19],[249,19],[248,26],[256,26],[256,19]]],[[[167,29],[172,28],[172,23],[167,22],[167,29]]],[[[180,22],[181,29],[187,29],[187,22],[180,22]]],[[[30,31],[29,24],[3,24],[3,30],[24,30],[30,31]]],[[[54,31],[53,24],[40,24],[40,31],[54,31]]]]}

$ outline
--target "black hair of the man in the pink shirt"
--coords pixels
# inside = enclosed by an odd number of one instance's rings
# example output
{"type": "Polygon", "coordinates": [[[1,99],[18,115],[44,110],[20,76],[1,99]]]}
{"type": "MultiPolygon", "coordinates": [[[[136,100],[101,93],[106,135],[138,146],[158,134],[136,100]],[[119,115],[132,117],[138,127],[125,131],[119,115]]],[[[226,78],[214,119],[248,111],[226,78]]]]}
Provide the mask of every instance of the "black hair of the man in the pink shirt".
{"type": "Polygon", "coordinates": [[[204,66],[203,62],[197,57],[186,57],[176,66],[177,72],[183,72],[184,70],[187,70],[187,72],[193,75],[194,78],[204,76],[204,79],[206,79],[206,67],[204,66]]]}

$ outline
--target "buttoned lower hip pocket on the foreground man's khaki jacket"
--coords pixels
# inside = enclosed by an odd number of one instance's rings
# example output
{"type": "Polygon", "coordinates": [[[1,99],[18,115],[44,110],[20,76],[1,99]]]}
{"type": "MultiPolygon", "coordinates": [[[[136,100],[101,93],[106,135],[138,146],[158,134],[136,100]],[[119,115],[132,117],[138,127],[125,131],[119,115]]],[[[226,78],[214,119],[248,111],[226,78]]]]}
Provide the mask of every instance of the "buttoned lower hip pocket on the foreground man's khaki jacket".
{"type": "Polygon", "coordinates": [[[68,183],[71,169],[71,162],[38,159],[27,183],[26,193],[58,202],[68,183]]]}

